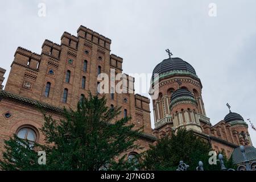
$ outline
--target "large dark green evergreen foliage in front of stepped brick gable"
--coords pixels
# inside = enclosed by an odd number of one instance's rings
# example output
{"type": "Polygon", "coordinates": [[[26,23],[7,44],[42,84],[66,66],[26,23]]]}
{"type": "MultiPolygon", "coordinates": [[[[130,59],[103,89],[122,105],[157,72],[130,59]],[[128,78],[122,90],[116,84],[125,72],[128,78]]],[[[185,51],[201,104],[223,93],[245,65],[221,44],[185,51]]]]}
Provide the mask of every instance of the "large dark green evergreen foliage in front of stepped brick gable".
{"type": "Polygon", "coordinates": [[[0,168],[4,170],[124,170],[134,169],[127,156],[129,150],[140,149],[134,144],[139,130],[126,125],[130,117],[119,119],[120,107],[109,109],[105,96],[99,98],[89,93],[77,104],[77,110],[64,109],[63,119],[56,121],[44,113],[42,133],[44,144],[35,144],[14,136],[5,141],[6,151],[0,168]],[[19,144],[17,141],[24,144],[19,144]],[[27,146],[27,147],[24,147],[27,146]],[[46,165],[38,164],[38,153],[46,151],[46,165]]]}

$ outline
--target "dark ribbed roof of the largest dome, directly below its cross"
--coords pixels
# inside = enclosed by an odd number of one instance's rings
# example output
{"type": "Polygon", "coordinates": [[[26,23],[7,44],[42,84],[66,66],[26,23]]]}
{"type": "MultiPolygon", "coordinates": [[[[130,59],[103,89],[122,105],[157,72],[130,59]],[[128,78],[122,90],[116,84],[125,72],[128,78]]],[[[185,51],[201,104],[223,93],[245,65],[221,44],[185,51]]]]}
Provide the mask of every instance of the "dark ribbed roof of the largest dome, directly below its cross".
{"type": "Polygon", "coordinates": [[[192,65],[187,63],[186,61],[183,61],[179,57],[173,57],[173,58],[163,60],[161,63],[156,65],[156,67],[153,70],[153,75],[154,73],[160,74],[160,73],[164,73],[172,70],[189,71],[196,75],[196,71],[192,67],[192,65]]]}

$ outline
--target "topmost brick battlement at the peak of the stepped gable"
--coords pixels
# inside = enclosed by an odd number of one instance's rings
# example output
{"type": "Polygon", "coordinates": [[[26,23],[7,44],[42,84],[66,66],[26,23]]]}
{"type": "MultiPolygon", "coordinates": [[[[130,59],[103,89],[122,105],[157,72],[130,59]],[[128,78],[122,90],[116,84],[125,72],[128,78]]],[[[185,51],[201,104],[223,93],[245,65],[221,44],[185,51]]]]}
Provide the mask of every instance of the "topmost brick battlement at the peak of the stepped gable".
{"type": "Polygon", "coordinates": [[[110,50],[111,40],[109,38],[82,25],[77,30],[77,36],[110,50]]]}

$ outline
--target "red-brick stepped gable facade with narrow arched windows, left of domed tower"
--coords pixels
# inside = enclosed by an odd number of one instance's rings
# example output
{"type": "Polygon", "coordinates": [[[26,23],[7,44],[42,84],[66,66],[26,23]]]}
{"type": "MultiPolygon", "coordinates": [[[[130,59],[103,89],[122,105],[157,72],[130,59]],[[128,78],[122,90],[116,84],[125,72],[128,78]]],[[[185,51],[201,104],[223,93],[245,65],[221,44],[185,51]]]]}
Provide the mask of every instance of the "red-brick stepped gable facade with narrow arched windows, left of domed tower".
{"type": "Polygon", "coordinates": [[[150,100],[134,94],[133,77],[123,74],[122,80],[113,80],[123,71],[123,59],[110,53],[111,43],[105,36],[80,26],[77,36],[64,32],[60,44],[45,40],[40,54],[18,47],[5,90],[2,90],[5,69],[0,69],[0,151],[3,150],[3,140],[13,134],[43,143],[44,136],[39,128],[44,118],[36,109],[37,104],[59,119],[61,108],[76,109],[79,100],[88,96],[89,91],[98,94],[100,73],[109,77],[109,88],[105,93],[107,105],[122,107],[117,119],[131,116],[129,124],[134,124],[135,129],[143,128],[144,134],[138,143],[147,150],[156,140],[151,135],[150,100]],[[128,83],[129,88],[123,84],[126,92],[115,92],[112,87],[112,83],[116,86],[120,80],[128,83]]]}

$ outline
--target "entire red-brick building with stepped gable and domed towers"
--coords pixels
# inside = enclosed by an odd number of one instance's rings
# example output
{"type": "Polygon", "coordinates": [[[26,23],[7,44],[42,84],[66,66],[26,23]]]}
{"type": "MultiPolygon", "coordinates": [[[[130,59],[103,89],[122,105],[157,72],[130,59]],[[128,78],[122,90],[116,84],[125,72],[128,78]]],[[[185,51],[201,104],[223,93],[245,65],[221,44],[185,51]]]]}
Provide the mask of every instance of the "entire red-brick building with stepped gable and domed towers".
{"type": "MultiPolygon", "coordinates": [[[[18,47],[5,89],[0,89],[0,151],[3,140],[15,133],[20,138],[43,143],[39,128],[44,119],[36,104],[58,119],[64,106],[75,109],[89,90],[97,94],[99,73],[109,77],[122,73],[123,59],[110,53],[110,45],[110,39],[80,26],[77,36],[64,32],[60,44],[45,40],[40,55],[18,47]]],[[[211,125],[201,97],[200,78],[186,61],[170,57],[156,65],[153,73],[159,74],[158,85],[152,80],[152,88],[159,88],[158,99],[152,100],[154,130],[150,122],[150,99],[130,92],[134,91],[133,77],[123,74],[129,83],[123,89],[128,93],[113,92],[110,86],[106,94],[109,107],[122,106],[119,118],[130,115],[130,123],[137,128],[143,126],[144,134],[138,143],[144,150],[180,127],[193,130],[208,140],[214,150],[224,150],[228,156],[239,145],[252,146],[248,126],[241,115],[230,111],[223,121],[211,125]]],[[[0,68],[1,88],[4,74],[5,69],[0,68]]]]}

